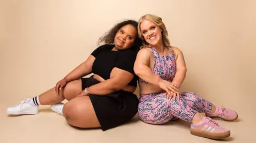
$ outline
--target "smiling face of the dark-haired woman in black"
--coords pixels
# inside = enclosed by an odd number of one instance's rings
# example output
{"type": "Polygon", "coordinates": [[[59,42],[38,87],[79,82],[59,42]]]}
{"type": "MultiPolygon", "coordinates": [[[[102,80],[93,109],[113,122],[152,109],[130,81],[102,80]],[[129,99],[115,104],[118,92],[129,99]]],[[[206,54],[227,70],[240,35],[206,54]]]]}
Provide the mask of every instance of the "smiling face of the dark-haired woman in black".
{"type": "Polygon", "coordinates": [[[129,49],[132,47],[137,37],[137,29],[131,24],[120,28],[115,36],[114,43],[118,50],[129,49]]]}

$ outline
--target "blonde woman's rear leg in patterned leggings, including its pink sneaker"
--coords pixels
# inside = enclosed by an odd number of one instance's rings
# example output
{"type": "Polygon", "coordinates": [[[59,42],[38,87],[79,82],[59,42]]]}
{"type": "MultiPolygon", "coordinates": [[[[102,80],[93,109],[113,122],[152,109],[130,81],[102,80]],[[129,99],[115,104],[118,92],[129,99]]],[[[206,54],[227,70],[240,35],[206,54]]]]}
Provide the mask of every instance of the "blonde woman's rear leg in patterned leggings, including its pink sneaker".
{"type": "Polygon", "coordinates": [[[193,92],[182,92],[181,98],[185,100],[185,102],[198,112],[205,113],[205,115],[210,117],[220,117],[226,121],[233,121],[238,118],[238,114],[224,107],[216,107],[209,101],[203,99],[193,92]]]}

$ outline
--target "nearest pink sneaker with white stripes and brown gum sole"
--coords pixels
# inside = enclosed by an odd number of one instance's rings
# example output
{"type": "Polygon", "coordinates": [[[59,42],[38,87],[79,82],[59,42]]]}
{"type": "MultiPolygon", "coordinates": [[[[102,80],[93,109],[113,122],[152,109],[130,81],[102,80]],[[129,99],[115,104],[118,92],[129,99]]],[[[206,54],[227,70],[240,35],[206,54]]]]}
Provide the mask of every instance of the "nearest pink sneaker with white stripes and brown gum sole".
{"type": "Polygon", "coordinates": [[[230,136],[230,131],[213,121],[210,117],[204,117],[199,123],[191,124],[190,133],[195,136],[210,139],[223,139],[230,136]]]}

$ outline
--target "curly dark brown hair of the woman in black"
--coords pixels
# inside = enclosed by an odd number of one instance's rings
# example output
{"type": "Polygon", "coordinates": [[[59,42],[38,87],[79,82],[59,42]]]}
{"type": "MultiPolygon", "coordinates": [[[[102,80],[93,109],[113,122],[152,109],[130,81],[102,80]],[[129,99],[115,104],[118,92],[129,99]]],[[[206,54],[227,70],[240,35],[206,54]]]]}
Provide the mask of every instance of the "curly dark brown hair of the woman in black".
{"type": "Polygon", "coordinates": [[[103,44],[113,45],[117,31],[123,26],[126,26],[127,24],[131,24],[137,30],[136,39],[131,49],[134,51],[139,51],[139,48],[142,45],[142,39],[139,37],[139,34],[138,34],[138,22],[134,20],[125,20],[123,22],[119,22],[115,24],[115,26],[111,28],[104,36],[99,38],[98,44],[100,45],[100,43],[103,43],[103,44]]]}

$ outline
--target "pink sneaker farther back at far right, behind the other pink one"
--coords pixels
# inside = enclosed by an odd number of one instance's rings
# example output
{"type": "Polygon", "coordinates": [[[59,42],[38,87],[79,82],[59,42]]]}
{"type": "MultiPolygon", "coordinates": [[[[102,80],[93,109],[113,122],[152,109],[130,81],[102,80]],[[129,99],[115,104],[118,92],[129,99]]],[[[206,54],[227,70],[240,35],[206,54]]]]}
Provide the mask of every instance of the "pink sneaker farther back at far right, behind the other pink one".
{"type": "Polygon", "coordinates": [[[205,113],[205,115],[212,118],[219,117],[225,121],[234,121],[238,118],[238,114],[235,111],[225,107],[216,107],[214,113],[205,113]]]}

